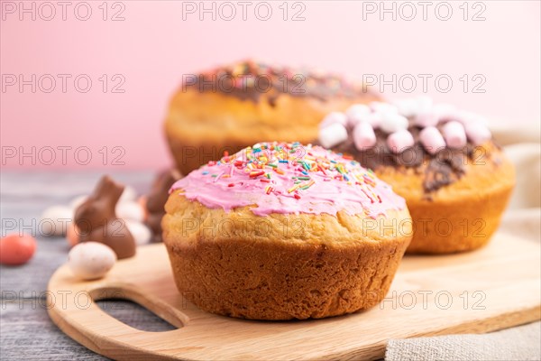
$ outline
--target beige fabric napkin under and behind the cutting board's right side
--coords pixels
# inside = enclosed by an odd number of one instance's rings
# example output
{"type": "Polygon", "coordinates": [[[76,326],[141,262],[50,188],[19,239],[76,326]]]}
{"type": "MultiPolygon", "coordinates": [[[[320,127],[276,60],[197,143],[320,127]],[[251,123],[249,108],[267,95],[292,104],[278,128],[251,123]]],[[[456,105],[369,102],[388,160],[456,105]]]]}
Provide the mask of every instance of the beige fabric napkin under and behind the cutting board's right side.
{"type": "MultiPolygon", "coordinates": [[[[517,168],[517,186],[500,232],[539,242],[541,238],[540,131],[493,129],[494,137],[517,168]]],[[[541,266],[541,265],[540,265],[541,266]]],[[[432,338],[391,339],[386,361],[419,360],[539,360],[541,322],[485,335],[451,335],[432,338]]]]}

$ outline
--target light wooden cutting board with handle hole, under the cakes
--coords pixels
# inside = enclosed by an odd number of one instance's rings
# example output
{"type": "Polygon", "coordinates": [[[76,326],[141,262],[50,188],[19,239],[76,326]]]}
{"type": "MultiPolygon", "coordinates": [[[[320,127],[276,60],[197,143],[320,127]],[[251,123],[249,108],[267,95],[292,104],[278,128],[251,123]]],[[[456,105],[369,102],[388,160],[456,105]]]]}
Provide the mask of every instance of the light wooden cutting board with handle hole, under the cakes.
{"type": "Polygon", "coordinates": [[[500,234],[469,254],[406,256],[380,306],[263,322],[198,310],[177,291],[165,247],[149,245],[94,282],[60,267],[49,283],[49,314],[69,337],[115,359],[376,359],[390,338],[482,333],[541,319],[540,255],[538,243],[500,234]],[[179,329],[133,329],[91,300],[104,298],[135,301],[179,329]]]}

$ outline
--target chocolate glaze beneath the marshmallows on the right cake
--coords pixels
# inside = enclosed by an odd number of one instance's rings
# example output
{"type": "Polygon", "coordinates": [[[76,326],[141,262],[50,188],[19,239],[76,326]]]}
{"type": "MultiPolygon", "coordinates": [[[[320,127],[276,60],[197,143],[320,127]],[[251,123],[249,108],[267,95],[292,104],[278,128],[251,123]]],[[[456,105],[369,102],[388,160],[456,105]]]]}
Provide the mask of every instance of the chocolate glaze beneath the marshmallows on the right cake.
{"type": "MultiPolygon", "coordinates": [[[[440,131],[443,125],[445,123],[440,123],[437,126],[440,131]]],[[[419,132],[421,129],[412,125],[410,121],[408,131],[413,135],[415,144],[399,154],[390,151],[387,145],[388,134],[380,129],[374,130],[376,145],[369,150],[357,150],[351,135],[353,131],[349,129],[350,137],[348,140],[335,146],[333,151],[350,154],[363,167],[374,171],[384,166],[415,168],[418,171],[424,171],[423,190],[426,193],[426,198],[430,198],[431,192],[459,180],[466,171],[465,166],[468,159],[479,162],[499,162],[498,159],[492,158],[492,154],[486,153],[484,148],[476,147],[470,142],[466,143],[463,149],[444,148],[436,154],[430,154],[420,143],[419,132]]]]}

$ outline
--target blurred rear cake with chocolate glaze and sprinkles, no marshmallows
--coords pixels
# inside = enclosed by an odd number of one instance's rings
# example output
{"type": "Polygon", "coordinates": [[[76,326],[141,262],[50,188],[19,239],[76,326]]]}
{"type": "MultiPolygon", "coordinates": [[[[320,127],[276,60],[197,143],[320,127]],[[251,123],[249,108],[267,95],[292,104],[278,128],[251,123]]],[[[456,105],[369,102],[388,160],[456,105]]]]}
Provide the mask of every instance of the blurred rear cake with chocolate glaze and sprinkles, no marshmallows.
{"type": "Polygon", "coordinates": [[[179,171],[188,174],[257,142],[311,142],[326,113],[376,98],[330,74],[242,61],[185,75],[165,134],[179,171]]]}

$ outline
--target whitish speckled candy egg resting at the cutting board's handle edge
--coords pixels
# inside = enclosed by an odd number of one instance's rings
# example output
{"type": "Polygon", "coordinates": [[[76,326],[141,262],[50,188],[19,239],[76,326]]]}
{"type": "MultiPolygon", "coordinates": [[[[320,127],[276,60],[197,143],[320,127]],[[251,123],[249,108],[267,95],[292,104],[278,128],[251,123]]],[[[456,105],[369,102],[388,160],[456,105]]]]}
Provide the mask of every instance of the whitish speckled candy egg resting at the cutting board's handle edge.
{"type": "Polygon", "coordinates": [[[75,245],[68,255],[71,272],[82,280],[102,278],[115,262],[115,252],[109,246],[97,242],[75,245]]]}

